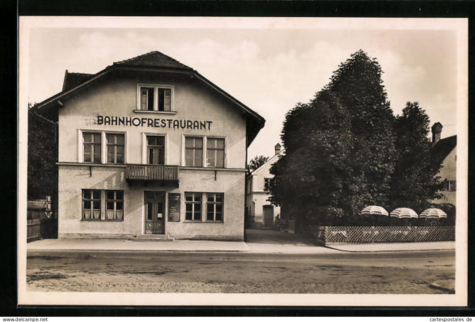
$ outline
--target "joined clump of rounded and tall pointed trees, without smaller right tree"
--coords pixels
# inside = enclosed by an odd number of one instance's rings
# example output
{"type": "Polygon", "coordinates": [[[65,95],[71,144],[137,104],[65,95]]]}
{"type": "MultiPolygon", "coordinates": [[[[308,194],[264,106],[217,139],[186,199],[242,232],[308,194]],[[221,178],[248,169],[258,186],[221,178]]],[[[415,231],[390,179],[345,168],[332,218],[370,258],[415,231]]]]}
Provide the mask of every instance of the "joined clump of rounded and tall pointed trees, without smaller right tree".
{"type": "Polygon", "coordinates": [[[271,169],[274,203],[307,217],[318,216],[315,207],[357,216],[365,205],[388,204],[394,116],[381,73],[360,50],[310,103],[287,113],[281,134],[286,154],[271,169]]]}

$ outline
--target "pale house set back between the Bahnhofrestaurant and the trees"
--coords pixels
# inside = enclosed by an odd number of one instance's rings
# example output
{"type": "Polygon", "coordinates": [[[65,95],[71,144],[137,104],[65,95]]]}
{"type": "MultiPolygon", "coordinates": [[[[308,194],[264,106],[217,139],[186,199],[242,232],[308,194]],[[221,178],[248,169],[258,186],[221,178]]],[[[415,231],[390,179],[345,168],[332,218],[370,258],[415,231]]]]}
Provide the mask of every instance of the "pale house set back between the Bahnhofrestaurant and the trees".
{"type": "Polygon", "coordinates": [[[281,146],[276,144],[276,154],[265,164],[251,172],[247,176],[246,184],[246,214],[251,228],[272,228],[274,218],[280,215],[280,207],[272,205],[269,198],[269,185],[272,184],[274,175],[271,175],[270,167],[277,161],[281,146]]]}

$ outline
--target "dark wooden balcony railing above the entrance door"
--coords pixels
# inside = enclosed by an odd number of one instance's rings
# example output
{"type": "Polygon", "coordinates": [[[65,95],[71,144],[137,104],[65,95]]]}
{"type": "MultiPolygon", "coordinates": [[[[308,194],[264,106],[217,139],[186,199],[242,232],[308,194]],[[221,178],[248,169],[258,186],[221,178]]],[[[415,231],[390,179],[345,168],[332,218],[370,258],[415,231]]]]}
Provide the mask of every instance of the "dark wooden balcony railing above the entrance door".
{"type": "Polygon", "coordinates": [[[178,181],[178,166],[127,165],[127,180],[178,181]]]}

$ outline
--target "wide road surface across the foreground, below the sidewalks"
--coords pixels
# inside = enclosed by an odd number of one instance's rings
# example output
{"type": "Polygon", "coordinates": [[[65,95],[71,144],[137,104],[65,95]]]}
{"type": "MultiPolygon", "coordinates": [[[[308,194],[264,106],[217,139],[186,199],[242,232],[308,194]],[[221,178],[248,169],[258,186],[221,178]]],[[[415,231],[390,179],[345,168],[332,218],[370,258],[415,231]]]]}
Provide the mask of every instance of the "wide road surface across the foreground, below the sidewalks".
{"type": "Polygon", "coordinates": [[[249,254],[28,251],[28,291],[447,294],[455,251],[249,254]]]}

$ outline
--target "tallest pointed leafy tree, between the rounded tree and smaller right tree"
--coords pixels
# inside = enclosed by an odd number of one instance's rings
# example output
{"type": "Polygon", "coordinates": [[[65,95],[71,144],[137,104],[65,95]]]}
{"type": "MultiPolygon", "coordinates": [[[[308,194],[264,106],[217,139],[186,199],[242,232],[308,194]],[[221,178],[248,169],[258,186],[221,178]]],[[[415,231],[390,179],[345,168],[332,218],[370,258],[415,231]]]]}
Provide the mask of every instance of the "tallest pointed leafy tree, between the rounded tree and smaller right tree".
{"type": "Polygon", "coordinates": [[[354,145],[347,188],[353,213],[367,203],[389,202],[395,162],[394,116],[381,74],[377,60],[360,50],[340,65],[327,85],[350,110],[354,145]]]}

